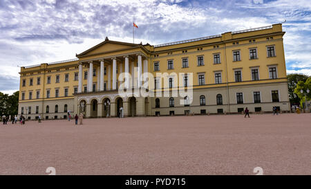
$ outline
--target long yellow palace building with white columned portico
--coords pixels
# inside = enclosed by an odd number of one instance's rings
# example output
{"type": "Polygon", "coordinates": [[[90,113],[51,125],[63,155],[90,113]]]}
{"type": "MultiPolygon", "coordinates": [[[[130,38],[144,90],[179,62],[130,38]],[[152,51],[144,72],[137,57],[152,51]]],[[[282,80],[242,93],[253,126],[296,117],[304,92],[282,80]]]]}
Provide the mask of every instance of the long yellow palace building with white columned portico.
{"type": "Polygon", "coordinates": [[[106,37],[75,60],[21,67],[19,115],[289,111],[284,34],[274,24],[155,46],[106,37]]]}

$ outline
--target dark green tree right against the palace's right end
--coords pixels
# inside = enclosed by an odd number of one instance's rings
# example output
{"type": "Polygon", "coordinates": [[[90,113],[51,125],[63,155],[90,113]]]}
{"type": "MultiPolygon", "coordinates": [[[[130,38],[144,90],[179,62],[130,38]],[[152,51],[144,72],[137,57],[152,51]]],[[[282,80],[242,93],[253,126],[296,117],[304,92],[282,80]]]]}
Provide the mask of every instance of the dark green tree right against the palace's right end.
{"type": "Polygon", "coordinates": [[[299,96],[294,93],[294,89],[296,89],[296,85],[298,84],[299,81],[305,82],[308,79],[308,75],[303,75],[303,74],[297,74],[297,73],[292,73],[288,74],[288,93],[290,96],[290,103],[299,103],[300,98],[299,96]]]}

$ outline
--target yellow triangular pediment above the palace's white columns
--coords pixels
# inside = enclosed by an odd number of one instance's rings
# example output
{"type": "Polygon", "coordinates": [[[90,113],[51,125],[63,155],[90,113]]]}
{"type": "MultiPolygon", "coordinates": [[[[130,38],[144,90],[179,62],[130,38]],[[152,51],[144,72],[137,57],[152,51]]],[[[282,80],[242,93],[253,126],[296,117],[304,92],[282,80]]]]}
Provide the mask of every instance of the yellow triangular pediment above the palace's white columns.
{"type": "Polygon", "coordinates": [[[106,39],[104,42],[89,48],[88,50],[84,51],[77,55],[77,57],[85,57],[89,55],[98,55],[104,53],[110,53],[114,51],[122,51],[126,49],[131,49],[140,46],[140,44],[130,44],[125,42],[115,42],[106,39]]]}

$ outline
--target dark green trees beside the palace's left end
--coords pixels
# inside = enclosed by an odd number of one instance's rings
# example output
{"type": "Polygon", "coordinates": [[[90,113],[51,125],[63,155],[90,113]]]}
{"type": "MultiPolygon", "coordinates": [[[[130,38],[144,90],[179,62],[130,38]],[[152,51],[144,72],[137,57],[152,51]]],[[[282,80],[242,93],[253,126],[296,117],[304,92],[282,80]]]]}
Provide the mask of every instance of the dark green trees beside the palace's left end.
{"type": "Polygon", "coordinates": [[[19,91],[12,95],[3,94],[0,92],[0,114],[6,116],[15,116],[19,108],[19,91]]]}

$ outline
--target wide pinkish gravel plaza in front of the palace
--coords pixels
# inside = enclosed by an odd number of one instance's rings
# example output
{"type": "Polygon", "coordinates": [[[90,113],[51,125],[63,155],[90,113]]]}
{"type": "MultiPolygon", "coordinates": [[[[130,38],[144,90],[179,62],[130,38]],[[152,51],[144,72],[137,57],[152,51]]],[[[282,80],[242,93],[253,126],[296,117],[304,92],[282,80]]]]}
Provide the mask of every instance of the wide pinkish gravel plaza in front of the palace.
{"type": "Polygon", "coordinates": [[[311,174],[311,114],[0,125],[0,174],[311,174]]]}

